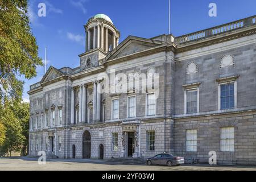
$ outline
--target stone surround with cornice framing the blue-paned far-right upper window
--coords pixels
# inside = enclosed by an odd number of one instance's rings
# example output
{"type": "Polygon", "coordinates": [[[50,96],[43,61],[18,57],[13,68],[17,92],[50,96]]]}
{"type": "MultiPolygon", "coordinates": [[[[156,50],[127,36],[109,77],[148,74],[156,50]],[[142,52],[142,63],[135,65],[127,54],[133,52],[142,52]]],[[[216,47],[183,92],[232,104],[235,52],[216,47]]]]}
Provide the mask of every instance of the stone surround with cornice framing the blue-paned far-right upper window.
{"type": "Polygon", "coordinates": [[[232,84],[232,83],[234,83],[234,108],[237,108],[237,78],[238,77],[240,77],[240,75],[216,79],[216,81],[218,82],[218,110],[226,110],[226,109],[221,109],[221,85],[232,84]]]}

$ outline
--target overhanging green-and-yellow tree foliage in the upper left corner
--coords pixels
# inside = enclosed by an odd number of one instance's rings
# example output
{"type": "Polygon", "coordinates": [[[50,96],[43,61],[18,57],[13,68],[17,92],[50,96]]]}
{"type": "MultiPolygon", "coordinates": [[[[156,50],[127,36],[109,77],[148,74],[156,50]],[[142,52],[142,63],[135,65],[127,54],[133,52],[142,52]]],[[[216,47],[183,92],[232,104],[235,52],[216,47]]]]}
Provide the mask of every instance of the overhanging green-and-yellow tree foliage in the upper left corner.
{"type": "Polygon", "coordinates": [[[27,15],[27,0],[0,0],[0,100],[21,100],[25,78],[36,76],[38,56],[27,15]]]}

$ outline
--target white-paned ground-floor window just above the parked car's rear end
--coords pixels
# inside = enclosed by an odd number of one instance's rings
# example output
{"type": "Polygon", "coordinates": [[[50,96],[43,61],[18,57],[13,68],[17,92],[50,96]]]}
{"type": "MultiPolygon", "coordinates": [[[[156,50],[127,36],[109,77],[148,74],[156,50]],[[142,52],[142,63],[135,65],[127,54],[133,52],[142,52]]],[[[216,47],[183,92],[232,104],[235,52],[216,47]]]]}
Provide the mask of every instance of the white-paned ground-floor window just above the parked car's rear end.
{"type": "Polygon", "coordinates": [[[186,131],[186,150],[187,151],[197,150],[197,130],[186,131]]]}

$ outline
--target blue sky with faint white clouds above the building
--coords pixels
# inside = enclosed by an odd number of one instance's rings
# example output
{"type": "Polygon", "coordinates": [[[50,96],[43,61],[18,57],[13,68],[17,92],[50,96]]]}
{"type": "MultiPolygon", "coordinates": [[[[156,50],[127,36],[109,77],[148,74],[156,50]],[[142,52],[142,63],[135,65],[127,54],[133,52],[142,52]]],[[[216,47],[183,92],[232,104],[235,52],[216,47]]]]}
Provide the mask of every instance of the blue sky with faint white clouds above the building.
{"type": "MultiPolygon", "coordinates": [[[[255,15],[255,10],[255,0],[171,0],[171,33],[180,36],[232,22],[255,15]],[[211,2],[217,5],[217,17],[208,15],[211,2]]],[[[151,38],[168,34],[168,0],[29,0],[32,32],[42,59],[47,47],[48,67],[79,66],[78,55],[85,51],[84,24],[98,13],[112,19],[121,32],[120,42],[129,35],[151,38]],[[46,4],[46,17],[38,16],[41,2],[46,4]]],[[[37,72],[35,78],[23,79],[24,101],[29,98],[29,85],[42,79],[44,67],[37,72]]]]}

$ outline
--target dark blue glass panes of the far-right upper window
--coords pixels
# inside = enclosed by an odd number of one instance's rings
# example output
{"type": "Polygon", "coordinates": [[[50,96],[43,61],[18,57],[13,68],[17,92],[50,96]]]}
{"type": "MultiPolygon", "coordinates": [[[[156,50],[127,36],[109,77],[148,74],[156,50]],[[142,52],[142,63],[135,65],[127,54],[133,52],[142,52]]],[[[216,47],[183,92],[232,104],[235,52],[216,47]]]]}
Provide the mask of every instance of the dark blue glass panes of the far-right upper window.
{"type": "Polygon", "coordinates": [[[234,83],[220,85],[221,109],[234,108],[234,83]]]}

